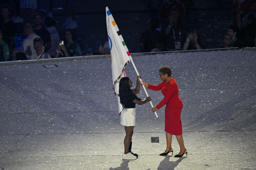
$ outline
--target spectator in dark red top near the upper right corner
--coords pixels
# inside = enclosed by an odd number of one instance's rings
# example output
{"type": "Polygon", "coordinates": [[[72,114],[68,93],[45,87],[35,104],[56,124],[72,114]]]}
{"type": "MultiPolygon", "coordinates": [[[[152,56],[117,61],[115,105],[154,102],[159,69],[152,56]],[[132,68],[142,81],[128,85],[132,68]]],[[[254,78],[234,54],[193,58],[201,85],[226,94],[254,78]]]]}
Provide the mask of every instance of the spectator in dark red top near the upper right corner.
{"type": "Polygon", "coordinates": [[[234,11],[234,25],[239,25],[243,17],[251,12],[250,0],[231,0],[234,11]]]}

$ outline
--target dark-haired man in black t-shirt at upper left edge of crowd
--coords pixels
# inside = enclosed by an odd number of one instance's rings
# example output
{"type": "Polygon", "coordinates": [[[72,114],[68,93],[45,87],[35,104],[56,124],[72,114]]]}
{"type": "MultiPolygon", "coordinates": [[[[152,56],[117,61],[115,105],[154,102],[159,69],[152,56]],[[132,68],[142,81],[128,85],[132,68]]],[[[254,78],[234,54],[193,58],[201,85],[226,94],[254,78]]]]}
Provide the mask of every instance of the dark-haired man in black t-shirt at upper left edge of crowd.
{"type": "Polygon", "coordinates": [[[3,40],[9,46],[9,51],[15,48],[15,34],[16,27],[14,22],[10,19],[11,7],[3,4],[0,7],[2,20],[0,21],[0,29],[3,31],[3,40]]]}

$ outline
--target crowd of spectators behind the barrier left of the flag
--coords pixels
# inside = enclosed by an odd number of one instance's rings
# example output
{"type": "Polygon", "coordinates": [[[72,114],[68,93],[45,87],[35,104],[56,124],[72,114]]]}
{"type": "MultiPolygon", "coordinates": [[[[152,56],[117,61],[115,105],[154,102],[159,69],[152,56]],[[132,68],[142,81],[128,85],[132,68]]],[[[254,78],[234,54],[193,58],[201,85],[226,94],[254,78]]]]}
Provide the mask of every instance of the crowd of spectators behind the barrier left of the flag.
{"type": "Polygon", "coordinates": [[[81,55],[81,48],[74,42],[73,36],[73,29],[77,28],[76,17],[74,17],[77,1],[65,1],[68,18],[63,25],[66,30],[62,43],[57,29],[53,26],[51,10],[54,1],[49,1],[50,12],[45,17],[37,12],[37,3],[42,1],[20,1],[19,15],[14,1],[8,2],[9,4],[3,4],[0,7],[0,62],[81,55]],[[14,8],[14,11],[9,5],[14,8]],[[14,15],[12,18],[11,12],[14,15]],[[16,23],[24,23],[23,31],[26,36],[19,49],[15,48],[16,23]]]}

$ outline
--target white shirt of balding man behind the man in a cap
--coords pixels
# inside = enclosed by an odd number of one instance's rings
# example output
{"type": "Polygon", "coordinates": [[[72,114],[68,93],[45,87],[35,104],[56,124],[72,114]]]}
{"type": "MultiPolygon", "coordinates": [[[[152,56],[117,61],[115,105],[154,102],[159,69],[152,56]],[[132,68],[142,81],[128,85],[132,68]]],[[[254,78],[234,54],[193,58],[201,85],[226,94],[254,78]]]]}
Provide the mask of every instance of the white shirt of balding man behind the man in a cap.
{"type": "MultiPolygon", "coordinates": [[[[30,34],[25,40],[23,40],[23,42],[20,46],[19,51],[25,53],[27,58],[29,58],[29,56],[31,56],[32,54],[34,54],[36,52],[36,50],[34,49],[34,44],[33,44],[33,41],[35,38],[40,38],[40,37],[38,35],[36,35],[35,33],[30,34]]],[[[43,49],[43,51],[44,51],[44,49],[43,49]]]]}

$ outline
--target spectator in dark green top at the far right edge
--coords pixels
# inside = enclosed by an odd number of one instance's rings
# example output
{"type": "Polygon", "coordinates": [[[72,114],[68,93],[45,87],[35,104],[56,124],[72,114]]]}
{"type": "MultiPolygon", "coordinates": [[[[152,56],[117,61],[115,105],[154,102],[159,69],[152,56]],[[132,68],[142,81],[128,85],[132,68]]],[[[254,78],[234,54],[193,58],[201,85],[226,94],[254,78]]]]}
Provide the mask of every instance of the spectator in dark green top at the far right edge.
{"type": "Polygon", "coordinates": [[[252,11],[246,14],[241,23],[241,30],[244,30],[245,47],[254,47],[254,38],[256,35],[256,0],[251,1],[252,11]]]}

